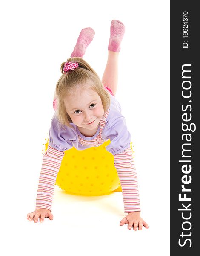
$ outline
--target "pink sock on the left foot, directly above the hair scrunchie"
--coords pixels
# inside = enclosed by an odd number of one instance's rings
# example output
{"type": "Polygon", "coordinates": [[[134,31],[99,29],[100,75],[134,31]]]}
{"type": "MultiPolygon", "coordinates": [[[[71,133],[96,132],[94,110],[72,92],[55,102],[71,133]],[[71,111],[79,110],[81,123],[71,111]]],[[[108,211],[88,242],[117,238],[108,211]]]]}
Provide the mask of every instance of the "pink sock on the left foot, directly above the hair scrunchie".
{"type": "Polygon", "coordinates": [[[77,43],[74,47],[74,51],[71,53],[71,58],[73,57],[83,57],[86,52],[87,47],[94,38],[94,30],[92,28],[82,29],[80,35],[77,39],[77,43]]]}

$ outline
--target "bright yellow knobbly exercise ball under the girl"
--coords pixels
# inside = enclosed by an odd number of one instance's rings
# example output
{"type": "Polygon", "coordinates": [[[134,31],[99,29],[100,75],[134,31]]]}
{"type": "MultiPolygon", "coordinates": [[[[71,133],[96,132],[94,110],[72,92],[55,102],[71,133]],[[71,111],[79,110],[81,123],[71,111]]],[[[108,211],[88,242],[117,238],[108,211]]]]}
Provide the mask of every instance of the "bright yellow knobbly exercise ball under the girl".
{"type": "MultiPolygon", "coordinates": [[[[85,150],[66,150],[55,184],[73,195],[98,196],[122,191],[114,157],[106,150],[109,143],[110,140],[85,150]]],[[[47,149],[48,142],[45,146],[47,149]]]]}

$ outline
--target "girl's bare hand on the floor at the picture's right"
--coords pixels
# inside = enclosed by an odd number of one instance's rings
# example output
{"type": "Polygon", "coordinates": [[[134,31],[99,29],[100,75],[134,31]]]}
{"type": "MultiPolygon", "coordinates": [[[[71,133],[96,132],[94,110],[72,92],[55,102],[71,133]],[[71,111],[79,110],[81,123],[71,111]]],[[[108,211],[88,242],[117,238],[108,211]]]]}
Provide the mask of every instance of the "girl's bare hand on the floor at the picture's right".
{"type": "Polygon", "coordinates": [[[142,227],[145,226],[149,228],[148,224],[140,217],[140,212],[129,212],[125,218],[123,218],[120,222],[120,225],[128,224],[128,229],[131,229],[133,226],[134,230],[142,230],[142,227]]]}

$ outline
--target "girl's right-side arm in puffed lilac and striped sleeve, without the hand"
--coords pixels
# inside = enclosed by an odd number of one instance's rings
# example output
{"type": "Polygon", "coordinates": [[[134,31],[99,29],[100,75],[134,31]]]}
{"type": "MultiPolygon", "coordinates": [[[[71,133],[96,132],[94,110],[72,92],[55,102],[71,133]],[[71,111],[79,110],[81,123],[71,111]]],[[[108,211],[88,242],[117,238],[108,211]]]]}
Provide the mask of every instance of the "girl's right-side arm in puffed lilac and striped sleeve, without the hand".
{"type": "Polygon", "coordinates": [[[131,134],[126,127],[125,118],[119,111],[112,110],[109,118],[102,135],[105,140],[111,140],[106,150],[114,156],[114,166],[122,187],[125,213],[140,212],[137,173],[130,147],[131,134]]]}

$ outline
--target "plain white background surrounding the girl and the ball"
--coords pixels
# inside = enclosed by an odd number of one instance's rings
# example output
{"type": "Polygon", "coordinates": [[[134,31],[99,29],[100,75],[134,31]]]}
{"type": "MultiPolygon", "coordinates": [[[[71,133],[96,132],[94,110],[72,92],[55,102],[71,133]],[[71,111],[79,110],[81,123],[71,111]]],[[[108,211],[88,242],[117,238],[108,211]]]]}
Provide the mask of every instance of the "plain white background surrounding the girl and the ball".
{"type": "Polygon", "coordinates": [[[4,255],[169,255],[169,3],[1,3],[0,195],[4,255]],[[35,207],[60,64],[70,57],[80,30],[90,26],[96,34],[84,58],[102,77],[113,19],[126,26],[116,98],[132,135],[141,216],[149,229],[134,231],[128,230],[127,224],[119,225],[126,216],[120,192],[82,198],[57,188],[54,220],[29,222],[26,215],[35,207]]]}

